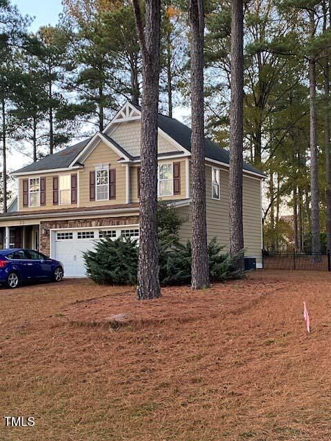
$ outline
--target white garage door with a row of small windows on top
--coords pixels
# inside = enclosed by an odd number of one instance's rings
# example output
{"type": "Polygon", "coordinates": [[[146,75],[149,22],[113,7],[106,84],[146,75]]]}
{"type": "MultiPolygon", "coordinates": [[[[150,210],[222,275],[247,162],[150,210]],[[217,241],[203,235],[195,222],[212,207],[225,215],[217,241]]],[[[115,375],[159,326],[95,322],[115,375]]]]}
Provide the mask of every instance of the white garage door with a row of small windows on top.
{"type": "Polygon", "coordinates": [[[65,277],[86,277],[83,252],[93,249],[98,240],[105,237],[120,236],[139,238],[138,225],[121,225],[121,227],[102,227],[88,229],[51,230],[52,258],[61,260],[65,277]]]}

